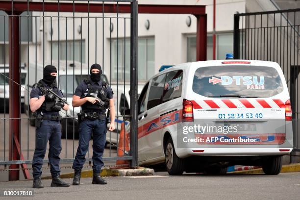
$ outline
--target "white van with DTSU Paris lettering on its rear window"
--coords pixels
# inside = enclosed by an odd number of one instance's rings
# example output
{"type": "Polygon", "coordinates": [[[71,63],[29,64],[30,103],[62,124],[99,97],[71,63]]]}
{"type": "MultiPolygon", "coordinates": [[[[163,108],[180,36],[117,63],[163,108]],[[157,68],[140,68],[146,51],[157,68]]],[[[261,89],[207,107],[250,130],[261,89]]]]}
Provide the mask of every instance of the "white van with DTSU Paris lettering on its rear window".
{"type": "Polygon", "coordinates": [[[293,148],[292,110],[275,62],[214,60],[165,67],[138,99],[140,165],[224,174],[262,166],[276,175],[293,148]]]}

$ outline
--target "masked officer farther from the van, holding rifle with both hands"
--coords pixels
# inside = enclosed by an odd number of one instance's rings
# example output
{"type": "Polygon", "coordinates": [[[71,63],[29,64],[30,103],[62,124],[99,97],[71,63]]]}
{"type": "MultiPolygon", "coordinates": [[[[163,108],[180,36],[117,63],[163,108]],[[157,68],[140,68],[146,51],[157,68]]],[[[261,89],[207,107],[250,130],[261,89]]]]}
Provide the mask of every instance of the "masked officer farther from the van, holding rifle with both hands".
{"type": "Polygon", "coordinates": [[[32,175],[33,188],[43,188],[41,182],[43,159],[45,157],[47,143],[49,140],[49,162],[50,172],[52,176],[52,187],[69,187],[69,183],[65,183],[59,177],[59,154],[61,151],[61,116],[60,109],[68,110],[68,104],[60,102],[50,92],[44,93],[39,87],[44,90],[50,89],[58,96],[63,97],[62,92],[56,86],[56,68],[52,65],[47,65],[44,68],[44,77],[37,85],[33,85],[30,93],[30,109],[36,112],[35,120],[35,150],[32,160],[32,175]],[[39,86],[39,87],[37,87],[39,86]]]}

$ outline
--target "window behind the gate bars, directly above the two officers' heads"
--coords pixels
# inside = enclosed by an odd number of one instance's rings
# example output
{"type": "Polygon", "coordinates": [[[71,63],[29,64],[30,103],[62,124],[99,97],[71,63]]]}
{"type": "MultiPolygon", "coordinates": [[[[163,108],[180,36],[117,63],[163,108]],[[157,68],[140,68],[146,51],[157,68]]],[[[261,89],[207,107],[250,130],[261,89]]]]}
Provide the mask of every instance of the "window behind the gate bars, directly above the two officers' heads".
{"type": "MultiPolygon", "coordinates": [[[[67,55],[67,60],[73,61],[73,40],[67,41],[59,41],[59,59],[60,60],[66,60],[66,55],[67,55]],[[66,47],[67,47],[67,54],[66,54],[66,47]]],[[[75,58],[74,60],[77,62],[81,62],[81,57],[82,57],[82,62],[85,62],[85,40],[82,40],[80,43],[80,40],[75,40],[74,41],[74,47],[75,47],[75,58]],[[80,55],[80,45],[81,45],[81,52],[82,54],[80,55]]],[[[58,41],[52,42],[52,60],[58,60],[58,41]]]]}

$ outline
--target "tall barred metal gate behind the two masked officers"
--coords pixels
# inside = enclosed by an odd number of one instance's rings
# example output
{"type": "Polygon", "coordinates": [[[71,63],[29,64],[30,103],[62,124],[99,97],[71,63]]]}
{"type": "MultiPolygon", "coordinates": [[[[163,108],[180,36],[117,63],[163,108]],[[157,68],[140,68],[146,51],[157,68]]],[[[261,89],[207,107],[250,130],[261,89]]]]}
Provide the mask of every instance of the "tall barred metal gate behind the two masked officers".
{"type": "MultiPolygon", "coordinates": [[[[19,179],[20,169],[29,177],[26,165],[31,163],[35,147],[30,91],[43,78],[48,64],[57,68],[57,85],[70,105],[76,86],[88,77],[90,65],[102,66],[102,80],[112,87],[116,108],[116,131],[107,131],[109,149],[103,160],[108,165],[112,160],[129,160],[130,167],[137,166],[137,9],[136,0],[1,1],[0,167],[9,170],[10,180],[19,179]],[[129,48],[120,45],[126,41],[129,48]],[[125,116],[129,105],[130,115],[125,116]],[[130,151],[118,157],[125,117],[130,119],[130,151]]],[[[61,112],[62,164],[75,157],[78,109],[71,106],[61,112]]],[[[89,146],[86,161],[91,165],[92,144],[89,146]]],[[[43,162],[49,165],[49,160],[43,162]]]]}

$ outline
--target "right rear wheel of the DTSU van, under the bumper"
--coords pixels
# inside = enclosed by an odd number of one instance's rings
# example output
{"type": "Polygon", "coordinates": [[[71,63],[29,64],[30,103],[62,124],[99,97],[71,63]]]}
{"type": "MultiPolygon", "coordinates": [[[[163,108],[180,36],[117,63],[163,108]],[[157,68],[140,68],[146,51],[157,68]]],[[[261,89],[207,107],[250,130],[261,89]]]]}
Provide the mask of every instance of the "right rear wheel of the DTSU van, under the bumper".
{"type": "Polygon", "coordinates": [[[282,156],[270,156],[262,165],[262,169],[266,175],[278,175],[282,167],[282,156]]]}

